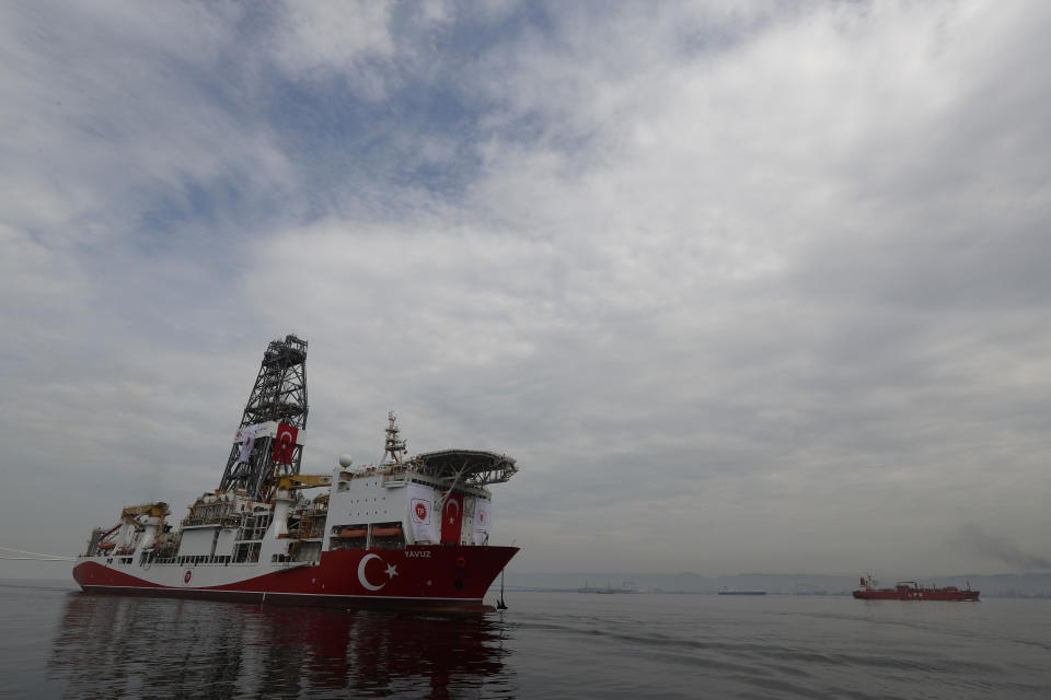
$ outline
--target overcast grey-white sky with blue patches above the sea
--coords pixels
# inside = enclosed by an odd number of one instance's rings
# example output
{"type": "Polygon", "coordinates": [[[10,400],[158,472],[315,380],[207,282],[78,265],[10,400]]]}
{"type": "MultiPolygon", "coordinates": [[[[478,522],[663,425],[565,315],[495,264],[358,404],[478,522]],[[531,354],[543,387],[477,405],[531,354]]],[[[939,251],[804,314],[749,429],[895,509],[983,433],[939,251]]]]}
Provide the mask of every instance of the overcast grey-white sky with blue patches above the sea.
{"type": "Polygon", "coordinates": [[[304,471],[380,457],[388,410],[411,451],[507,452],[523,572],[1049,569],[1049,33],[0,4],[0,546],[180,517],[294,332],[304,471]]]}

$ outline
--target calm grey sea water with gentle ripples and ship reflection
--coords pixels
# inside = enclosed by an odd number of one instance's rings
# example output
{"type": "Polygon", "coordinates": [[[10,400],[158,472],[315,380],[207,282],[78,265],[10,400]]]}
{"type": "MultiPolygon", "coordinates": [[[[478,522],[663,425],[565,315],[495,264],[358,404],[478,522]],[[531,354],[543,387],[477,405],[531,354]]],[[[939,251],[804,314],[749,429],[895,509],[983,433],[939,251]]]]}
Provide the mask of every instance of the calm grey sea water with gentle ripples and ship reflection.
{"type": "Polygon", "coordinates": [[[509,592],[480,616],[0,582],[25,698],[1041,698],[1051,600],[509,592]]]}

